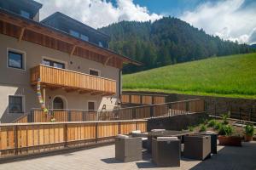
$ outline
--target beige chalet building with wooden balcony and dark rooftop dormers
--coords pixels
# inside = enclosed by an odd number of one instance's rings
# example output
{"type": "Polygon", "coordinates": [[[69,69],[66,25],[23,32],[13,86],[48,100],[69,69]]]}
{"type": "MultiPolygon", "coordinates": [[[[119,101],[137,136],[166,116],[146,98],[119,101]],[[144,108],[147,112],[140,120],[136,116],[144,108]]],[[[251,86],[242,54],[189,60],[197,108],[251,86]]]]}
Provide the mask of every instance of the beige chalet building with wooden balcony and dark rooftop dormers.
{"type": "Polygon", "coordinates": [[[41,108],[111,110],[121,94],[124,63],[109,37],[59,12],[39,21],[42,4],[0,0],[0,120],[41,108]]]}

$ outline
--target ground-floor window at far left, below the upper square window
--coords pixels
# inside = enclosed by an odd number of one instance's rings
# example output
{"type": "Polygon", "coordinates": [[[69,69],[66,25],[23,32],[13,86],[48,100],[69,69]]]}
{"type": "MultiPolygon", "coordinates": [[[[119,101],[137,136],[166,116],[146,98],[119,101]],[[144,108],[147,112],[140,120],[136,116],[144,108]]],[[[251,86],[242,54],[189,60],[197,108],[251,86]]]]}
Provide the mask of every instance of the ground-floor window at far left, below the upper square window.
{"type": "Polygon", "coordinates": [[[23,97],[9,96],[9,113],[23,113],[23,97]]]}

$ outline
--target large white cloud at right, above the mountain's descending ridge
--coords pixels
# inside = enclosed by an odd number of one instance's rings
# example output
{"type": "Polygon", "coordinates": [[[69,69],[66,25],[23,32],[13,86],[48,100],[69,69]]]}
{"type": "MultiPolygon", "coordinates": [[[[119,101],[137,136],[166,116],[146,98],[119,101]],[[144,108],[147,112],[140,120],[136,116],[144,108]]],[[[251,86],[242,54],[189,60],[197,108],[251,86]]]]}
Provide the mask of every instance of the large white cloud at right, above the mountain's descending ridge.
{"type": "Polygon", "coordinates": [[[244,0],[203,3],[194,11],[184,12],[181,19],[223,39],[253,43],[256,42],[256,5],[242,8],[244,3],[244,0]]]}

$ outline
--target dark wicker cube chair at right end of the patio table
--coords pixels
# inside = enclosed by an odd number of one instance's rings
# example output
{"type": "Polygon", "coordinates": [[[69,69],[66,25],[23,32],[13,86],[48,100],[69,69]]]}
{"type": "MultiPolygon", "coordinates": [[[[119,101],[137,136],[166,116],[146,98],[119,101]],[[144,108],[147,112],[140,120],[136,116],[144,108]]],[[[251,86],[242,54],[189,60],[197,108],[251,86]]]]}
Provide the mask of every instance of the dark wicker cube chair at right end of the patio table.
{"type": "Polygon", "coordinates": [[[211,136],[184,136],[183,156],[195,160],[205,160],[211,156],[211,136]]]}

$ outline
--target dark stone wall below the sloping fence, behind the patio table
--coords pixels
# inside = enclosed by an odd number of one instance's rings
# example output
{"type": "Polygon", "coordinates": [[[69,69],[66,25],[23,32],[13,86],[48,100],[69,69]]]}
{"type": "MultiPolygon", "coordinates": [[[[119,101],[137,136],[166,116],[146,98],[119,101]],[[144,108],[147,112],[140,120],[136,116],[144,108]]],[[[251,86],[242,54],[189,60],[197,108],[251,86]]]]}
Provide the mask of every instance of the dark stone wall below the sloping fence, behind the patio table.
{"type": "Polygon", "coordinates": [[[166,130],[183,130],[188,126],[198,125],[203,119],[207,119],[207,113],[195,113],[189,115],[177,115],[170,117],[158,117],[148,119],[148,132],[151,129],[163,128],[166,130]]]}

